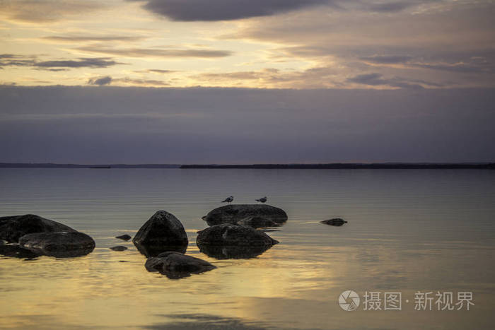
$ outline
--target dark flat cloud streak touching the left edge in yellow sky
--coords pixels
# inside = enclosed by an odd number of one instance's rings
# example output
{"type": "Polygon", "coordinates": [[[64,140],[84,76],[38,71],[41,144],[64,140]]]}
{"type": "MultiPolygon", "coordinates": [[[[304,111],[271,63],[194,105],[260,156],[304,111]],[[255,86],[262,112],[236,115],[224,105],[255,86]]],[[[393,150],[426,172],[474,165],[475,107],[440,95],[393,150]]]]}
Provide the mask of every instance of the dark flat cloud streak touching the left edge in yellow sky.
{"type": "Polygon", "coordinates": [[[0,67],[3,66],[33,66],[35,69],[48,71],[62,71],[62,68],[107,68],[117,64],[124,64],[112,60],[110,57],[82,57],[79,59],[39,61],[36,56],[15,54],[0,54],[0,67]]]}

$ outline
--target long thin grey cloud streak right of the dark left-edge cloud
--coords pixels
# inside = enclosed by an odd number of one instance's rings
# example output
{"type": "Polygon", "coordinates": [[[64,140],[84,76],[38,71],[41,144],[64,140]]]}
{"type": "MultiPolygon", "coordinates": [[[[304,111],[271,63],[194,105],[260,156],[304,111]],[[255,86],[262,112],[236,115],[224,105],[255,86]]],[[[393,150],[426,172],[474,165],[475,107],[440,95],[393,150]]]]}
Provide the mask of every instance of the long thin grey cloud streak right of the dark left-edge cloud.
{"type": "Polygon", "coordinates": [[[83,52],[93,52],[99,54],[108,54],[122,57],[156,57],[156,58],[170,58],[170,57],[192,57],[198,59],[211,59],[217,57],[228,57],[232,52],[228,50],[214,50],[214,49],[157,49],[157,48],[107,48],[100,47],[99,45],[78,47],[78,50],[83,52]]]}

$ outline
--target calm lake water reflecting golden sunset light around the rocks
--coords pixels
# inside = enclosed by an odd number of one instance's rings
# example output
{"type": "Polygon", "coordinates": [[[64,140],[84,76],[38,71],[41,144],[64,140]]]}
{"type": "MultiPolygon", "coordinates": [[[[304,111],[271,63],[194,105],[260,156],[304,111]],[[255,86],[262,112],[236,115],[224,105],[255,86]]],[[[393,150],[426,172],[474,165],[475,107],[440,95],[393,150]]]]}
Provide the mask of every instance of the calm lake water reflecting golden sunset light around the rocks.
{"type": "MultiPolygon", "coordinates": [[[[74,259],[0,257],[5,329],[493,329],[495,171],[0,169],[0,216],[35,213],[91,235],[74,259]],[[201,217],[229,195],[268,196],[289,221],[255,259],[199,252],[201,217]],[[184,224],[187,254],[218,269],[170,280],[132,242],[155,211],[184,224]],[[342,227],[318,223],[342,217],[342,227]],[[109,247],[125,245],[124,252],[109,247]],[[127,261],[127,262],[120,262],[127,261]],[[361,305],[339,307],[344,290],[361,305]],[[402,310],[363,310],[368,291],[402,310]],[[472,292],[462,310],[414,310],[415,293],[472,292]],[[406,302],[408,300],[409,302],[406,302]]],[[[383,308],[383,306],[382,306],[383,308]]]]}

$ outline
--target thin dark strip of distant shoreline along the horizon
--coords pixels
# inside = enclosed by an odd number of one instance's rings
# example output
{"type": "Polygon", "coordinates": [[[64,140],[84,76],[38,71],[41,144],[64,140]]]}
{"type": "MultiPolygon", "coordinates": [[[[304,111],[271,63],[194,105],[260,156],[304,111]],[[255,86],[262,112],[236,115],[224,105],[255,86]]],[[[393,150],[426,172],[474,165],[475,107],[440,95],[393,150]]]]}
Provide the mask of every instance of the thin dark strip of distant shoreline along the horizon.
{"type": "Polygon", "coordinates": [[[0,168],[181,168],[181,169],[445,169],[445,170],[495,170],[495,163],[327,163],[327,164],[250,164],[250,165],[179,165],[179,164],[55,164],[55,163],[0,163],[0,168]]]}

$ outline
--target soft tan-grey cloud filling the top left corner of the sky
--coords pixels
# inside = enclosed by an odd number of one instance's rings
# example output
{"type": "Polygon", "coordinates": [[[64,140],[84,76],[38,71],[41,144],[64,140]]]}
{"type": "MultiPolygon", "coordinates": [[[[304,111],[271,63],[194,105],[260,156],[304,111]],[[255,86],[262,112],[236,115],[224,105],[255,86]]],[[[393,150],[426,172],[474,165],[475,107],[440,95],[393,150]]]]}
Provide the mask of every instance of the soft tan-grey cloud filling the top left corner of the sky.
{"type": "Polygon", "coordinates": [[[105,8],[103,1],[0,0],[0,15],[7,20],[50,23],[105,8]]]}

